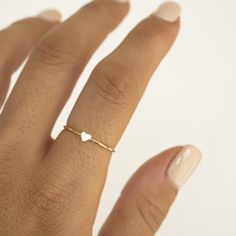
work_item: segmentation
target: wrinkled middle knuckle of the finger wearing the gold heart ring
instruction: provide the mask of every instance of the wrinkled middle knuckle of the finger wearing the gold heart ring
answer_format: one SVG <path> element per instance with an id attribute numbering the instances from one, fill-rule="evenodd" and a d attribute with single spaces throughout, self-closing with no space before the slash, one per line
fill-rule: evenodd
<path id="1" fill-rule="evenodd" d="M 108 104 L 127 105 L 140 94 L 136 73 L 121 63 L 99 64 L 93 78 L 95 93 Z"/>

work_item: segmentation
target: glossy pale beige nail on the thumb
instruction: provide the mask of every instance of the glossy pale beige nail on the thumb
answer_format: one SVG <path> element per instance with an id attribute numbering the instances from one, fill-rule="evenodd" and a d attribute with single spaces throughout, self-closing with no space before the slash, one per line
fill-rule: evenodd
<path id="1" fill-rule="evenodd" d="M 189 179 L 197 168 L 201 157 L 201 151 L 192 145 L 183 147 L 177 154 L 167 171 L 169 180 L 177 189 Z"/>

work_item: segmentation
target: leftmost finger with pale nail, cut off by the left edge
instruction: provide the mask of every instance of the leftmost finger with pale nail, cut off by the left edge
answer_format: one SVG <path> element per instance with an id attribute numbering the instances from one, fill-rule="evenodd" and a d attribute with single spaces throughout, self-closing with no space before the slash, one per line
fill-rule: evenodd
<path id="1" fill-rule="evenodd" d="M 60 20 L 55 10 L 17 21 L 0 31 L 0 108 L 5 99 L 9 78 L 21 65 L 39 39 Z"/>

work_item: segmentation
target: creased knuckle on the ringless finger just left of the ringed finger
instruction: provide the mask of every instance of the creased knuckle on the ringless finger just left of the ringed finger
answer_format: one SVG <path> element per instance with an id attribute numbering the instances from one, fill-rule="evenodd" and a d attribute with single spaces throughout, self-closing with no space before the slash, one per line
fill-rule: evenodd
<path id="1" fill-rule="evenodd" d="M 52 66 L 71 67 L 76 58 L 78 45 L 74 39 L 62 34 L 46 37 L 36 49 L 37 61 Z"/>

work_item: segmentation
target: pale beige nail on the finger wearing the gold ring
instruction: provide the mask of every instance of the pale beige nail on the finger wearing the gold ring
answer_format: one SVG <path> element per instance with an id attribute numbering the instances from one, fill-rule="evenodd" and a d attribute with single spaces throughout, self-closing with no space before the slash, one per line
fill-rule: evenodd
<path id="1" fill-rule="evenodd" d="M 181 7 L 175 2 L 165 2 L 161 4 L 154 12 L 155 16 L 170 23 L 174 23 L 175 21 L 177 21 L 180 14 Z"/>

